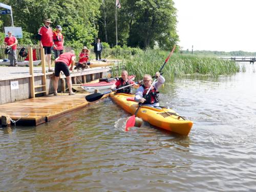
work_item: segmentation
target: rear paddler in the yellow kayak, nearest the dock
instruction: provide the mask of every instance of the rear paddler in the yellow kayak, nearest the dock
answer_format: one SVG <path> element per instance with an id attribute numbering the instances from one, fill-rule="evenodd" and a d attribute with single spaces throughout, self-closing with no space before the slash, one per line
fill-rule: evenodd
<path id="1" fill-rule="evenodd" d="M 119 88 L 128 86 L 129 84 L 134 84 L 134 83 L 135 83 L 134 81 L 129 80 L 129 78 L 128 78 L 128 72 L 124 70 L 124 71 L 122 71 L 121 79 L 117 80 L 117 81 L 115 82 L 115 84 L 113 84 L 113 85 L 111 86 L 111 90 L 112 90 L 112 91 L 116 91 L 116 89 L 119 89 Z M 126 87 L 126 88 L 117 90 L 116 93 L 131 94 L 131 87 L 132 87 L 132 86 L 129 86 L 129 87 Z M 138 85 L 138 84 L 135 84 L 133 87 L 138 88 L 139 85 Z"/>

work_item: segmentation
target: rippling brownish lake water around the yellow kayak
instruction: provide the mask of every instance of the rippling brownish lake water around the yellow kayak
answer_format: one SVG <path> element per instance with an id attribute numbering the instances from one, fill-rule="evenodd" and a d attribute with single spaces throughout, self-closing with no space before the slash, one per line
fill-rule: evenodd
<path id="1" fill-rule="evenodd" d="M 161 104 L 194 121 L 179 136 L 124 132 L 111 99 L 37 127 L 0 129 L 0 191 L 255 191 L 256 73 L 165 83 Z"/>

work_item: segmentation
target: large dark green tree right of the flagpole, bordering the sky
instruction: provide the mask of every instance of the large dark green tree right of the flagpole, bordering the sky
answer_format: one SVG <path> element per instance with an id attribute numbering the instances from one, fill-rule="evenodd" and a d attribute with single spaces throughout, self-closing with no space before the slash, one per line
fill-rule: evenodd
<path id="1" fill-rule="evenodd" d="M 176 32 L 176 8 L 172 0 L 136 1 L 129 45 L 143 49 L 153 48 L 155 41 L 160 48 L 170 49 L 179 40 Z"/>

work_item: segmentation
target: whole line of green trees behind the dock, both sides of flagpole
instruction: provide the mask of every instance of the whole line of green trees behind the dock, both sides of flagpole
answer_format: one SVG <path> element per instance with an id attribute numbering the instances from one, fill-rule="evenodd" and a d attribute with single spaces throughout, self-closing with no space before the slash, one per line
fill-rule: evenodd
<path id="1" fill-rule="evenodd" d="M 98 37 L 116 45 L 115 0 L 3 0 L 12 6 L 14 26 L 22 27 L 23 44 L 35 44 L 45 18 L 62 26 L 65 45 L 89 46 Z M 179 40 L 173 0 L 121 0 L 117 9 L 118 45 L 171 49 Z M 10 15 L 0 15 L 0 27 L 11 26 Z M 0 34 L 3 36 L 3 34 Z M 2 39 L 1 39 L 2 40 Z"/>

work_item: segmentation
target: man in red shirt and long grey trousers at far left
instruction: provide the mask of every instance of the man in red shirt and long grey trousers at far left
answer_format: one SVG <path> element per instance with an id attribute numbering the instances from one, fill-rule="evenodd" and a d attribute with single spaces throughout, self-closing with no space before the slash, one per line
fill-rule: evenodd
<path id="1" fill-rule="evenodd" d="M 5 45 L 7 48 L 10 48 L 11 52 L 8 53 L 8 59 L 10 60 L 10 66 L 11 67 L 17 67 L 18 62 L 17 62 L 17 44 L 18 40 L 16 37 L 12 36 L 12 32 L 8 31 L 8 37 L 5 37 Z"/>

